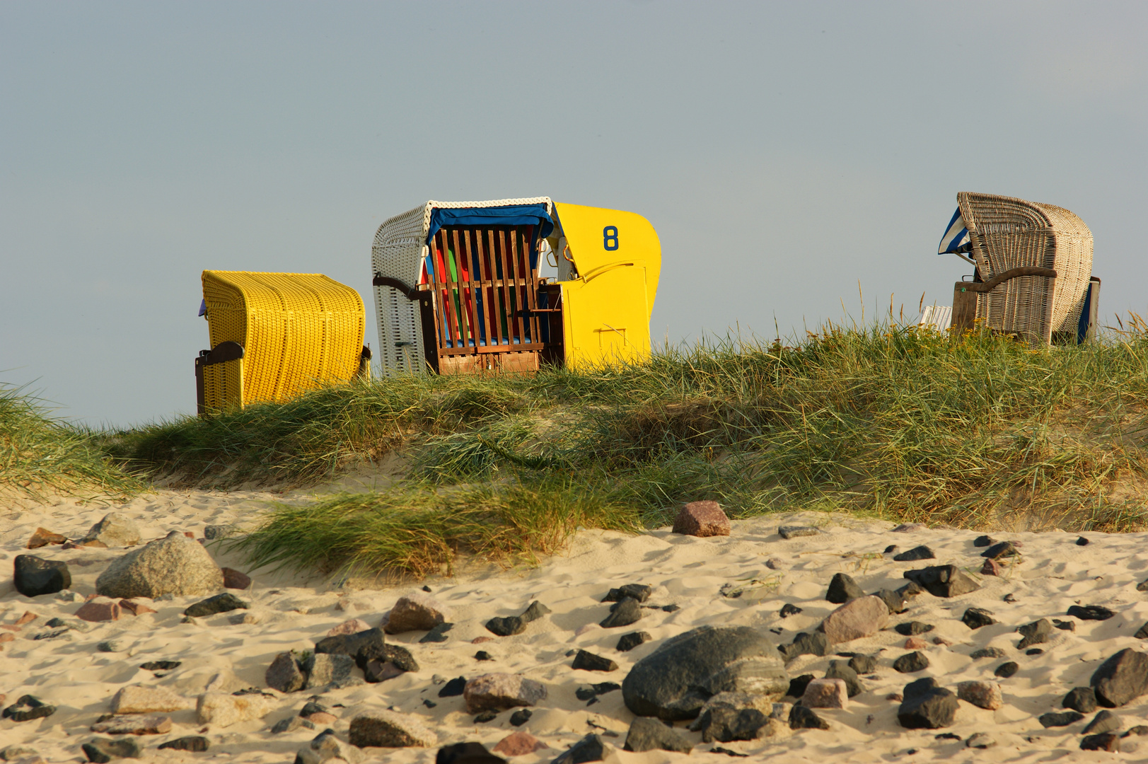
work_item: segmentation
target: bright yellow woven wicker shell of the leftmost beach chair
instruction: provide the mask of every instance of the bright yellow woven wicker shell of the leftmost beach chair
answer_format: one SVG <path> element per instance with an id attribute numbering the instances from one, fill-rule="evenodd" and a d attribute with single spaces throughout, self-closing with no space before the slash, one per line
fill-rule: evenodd
<path id="1" fill-rule="evenodd" d="M 358 371 L 366 318 L 349 286 L 321 273 L 203 271 L 203 299 L 211 347 L 245 350 L 204 370 L 209 408 L 284 401 Z"/>

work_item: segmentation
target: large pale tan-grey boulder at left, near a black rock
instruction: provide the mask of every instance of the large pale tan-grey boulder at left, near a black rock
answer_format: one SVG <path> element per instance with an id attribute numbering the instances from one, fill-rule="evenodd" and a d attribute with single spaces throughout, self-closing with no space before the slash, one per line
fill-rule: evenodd
<path id="1" fill-rule="evenodd" d="M 194 596 L 223 588 L 223 573 L 201 545 L 179 531 L 114 560 L 95 591 L 109 597 Z"/>

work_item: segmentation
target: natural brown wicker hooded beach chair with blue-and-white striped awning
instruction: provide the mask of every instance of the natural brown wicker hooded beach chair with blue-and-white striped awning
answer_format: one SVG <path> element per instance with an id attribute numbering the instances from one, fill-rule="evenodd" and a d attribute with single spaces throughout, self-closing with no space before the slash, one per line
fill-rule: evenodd
<path id="1" fill-rule="evenodd" d="M 957 281 L 952 327 L 975 324 L 1029 342 L 1081 342 L 1094 331 L 1100 279 L 1092 277 L 1092 232 L 1066 209 L 961 192 L 939 254 L 976 267 Z"/>

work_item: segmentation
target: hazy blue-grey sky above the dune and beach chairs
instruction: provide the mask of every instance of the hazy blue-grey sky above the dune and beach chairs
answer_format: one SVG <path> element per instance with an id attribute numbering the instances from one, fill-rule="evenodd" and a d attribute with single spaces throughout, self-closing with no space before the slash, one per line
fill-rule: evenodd
<path id="1" fill-rule="evenodd" d="M 956 193 L 1065 207 L 1148 312 L 1148 3 L 0 3 L 0 383 L 194 411 L 204 269 L 354 286 L 428 199 L 658 230 L 656 342 L 952 304 Z"/>

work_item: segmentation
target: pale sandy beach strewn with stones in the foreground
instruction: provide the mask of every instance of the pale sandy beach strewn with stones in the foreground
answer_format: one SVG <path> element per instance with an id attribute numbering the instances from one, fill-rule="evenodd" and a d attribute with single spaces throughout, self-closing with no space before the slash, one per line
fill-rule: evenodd
<path id="1" fill-rule="evenodd" d="M 154 613 L 123 615 L 114 622 L 76 623 L 75 612 L 95 592 L 95 579 L 110 561 L 126 550 L 117 548 L 40 548 L 38 554 L 68 563 L 75 595 L 25 597 L 13 586 L 13 558 L 29 554 L 26 543 L 38 527 L 69 538 L 84 535 L 109 511 L 133 519 L 142 542 L 171 531 L 203 537 L 209 525 L 236 524 L 250 527 L 271 501 L 290 500 L 269 492 L 174 492 L 163 491 L 132 499 L 123 504 L 54 499 L 45 502 L 21 500 L 6 515 L 0 532 L 0 555 L 6 571 L 0 581 L 0 625 L 13 635 L 0 647 L 0 694 L 7 707 L 31 694 L 56 707 L 47 718 L 15 723 L 0 721 L 0 748 L 20 744 L 34 749 L 48 762 L 87 761 L 80 744 L 96 736 L 93 724 L 110 710 L 111 699 L 125 686 L 163 687 L 186 699 L 186 708 L 168 713 L 169 732 L 141 735 L 144 761 L 192 762 L 204 758 L 231 762 L 290 762 L 295 753 L 325 726 L 347 740 L 348 725 L 357 713 L 391 709 L 411 715 L 437 738 L 437 746 L 463 741 L 494 748 L 515 731 L 536 736 L 549 748 L 515 756 L 512 761 L 549 762 L 588 733 L 598 733 L 607 744 L 606 761 L 669 762 L 711 756 L 714 746 L 771 762 L 1047 762 L 1148 759 L 1148 741 L 1135 734 L 1120 741 L 1123 754 L 1081 751 L 1083 727 L 1092 719 L 1063 727 L 1045 728 L 1038 717 L 1063 711 L 1062 699 L 1073 687 L 1087 686 L 1089 677 L 1109 656 L 1123 648 L 1140 649 L 1134 633 L 1148 622 L 1148 594 L 1137 585 L 1148 578 L 1146 534 L 1088 533 L 1086 546 L 1077 534 L 993 533 L 995 539 L 1021 543 L 1018 563 L 1006 565 L 1001 576 L 980 576 L 983 548 L 974 546 L 979 533 L 964 530 L 916 528 L 893 532 L 885 522 L 859 520 L 844 515 L 806 514 L 767 516 L 735 520 L 728 537 L 693 538 L 669 528 L 638 535 L 583 531 L 568 550 L 544 558 L 536 568 L 501 570 L 471 563 L 455 577 L 425 581 L 366 581 L 341 577 L 248 570 L 240 557 L 207 548 L 220 565 L 247 572 L 251 587 L 235 592 L 249 608 L 196 618 L 184 623 L 183 611 L 203 597 L 156 600 Z M 783 524 L 815 525 L 821 531 L 790 540 L 777 528 Z M 890 545 L 903 551 L 928 545 L 934 560 L 894 562 L 884 554 Z M 576 696 L 579 688 L 618 682 L 630 667 L 650 655 L 667 638 L 703 625 L 748 626 L 776 645 L 793 640 L 798 632 L 813 632 L 838 605 L 824 596 L 835 573 L 851 576 L 867 593 L 906 584 L 903 571 L 929 564 L 955 564 L 969 572 L 979 588 L 944 599 L 917 595 L 908 610 L 890 617 L 889 626 L 863 639 L 833 645 L 825 656 L 801 655 L 791 661 L 791 678 L 822 677 L 835 653 L 877 656 L 874 672 L 862 676 L 864 692 L 850 699 L 845 709 L 816 709 L 829 730 L 794 730 L 770 738 L 726 743 L 701 742 L 699 733 L 678 723 L 677 731 L 695 746 L 693 753 L 622 750 L 634 715 L 619 690 L 603 692 L 588 702 Z M 642 619 L 631 626 L 603 628 L 610 603 L 602 602 L 612 587 L 625 584 L 652 587 Z M 351 618 L 375 627 L 400 596 L 422 586 L 430 596 L 449 607 L 453 628 L 440 643 L 421 643 L 425 631 L 388 635 L 387 641 L 408 648 L 419 664 L 379 684 L 352 682 L 323 692 L 279 693 L 267 689 L 265 671 L 285 650 L 310 650 L 328 632 Z M 521 634 L 495 636 L 484 623 L 496 616 L 513 616 L 533 601 L 550 613 L 530 623 Z M 782 617 L 784 604 L 800 612 Z M 1081 620 L 1066 616 L 1073 604 L 1104 605 L 1115 616 L 1107 620 Z M 676 605 L 676 609 L 664 609 Z M 970 608 L 984 608 L 999 622 L 977 630 L 962 623 Z M 25 612 L 34 615 L 28 620 Z M 22 620 L 23 625 L 15 626 Z M 47 626 L 53 618 L 71 623 L 60 631 Z M 1072 622 L 1075 631 L 1055 628 L 1042 650 L 1027 655 L 1016 649 L 1017 626 L 1040 618 Z M 921 638 L 929 666 L 913 673 L 892 667 L 907 638 L 894 626 L 922 622 L 933 630 Z M 629 651 L 616 648 L 619 638 L 633 631 L 652 639 Z M 37 639 L 40 636 L 40 639 Z M 116 651 L 98 645 L 114 641 Z M 479 643 L 474 643 L 478 640 Z M 974 650 L 996 647 L 1002 658 L 974 659 Z M 584 649 L 614 661 L 614 671 L 584 671 L 571 666 L 575 650 Z M 482 650 L 489 659 L 479 661 Z M 179 661 L 173 670 L 149 671 L 140 665 L 152 661 Z M 1006 661 L 1019 664 L 1008 678 L 994 676 Z M 521 726 L 512 726 L 507 711 L 475 723 L 460 696 L 440 697 L 444 681 L 482 673 L 522 674 L 545 685 L 548 695 Z M 362 677 L 362 672 L 356 672 Z M 933 677 L 954 692 L 965 680 L 1000 684 L 1003 705 L 986 710 L 960 701 L 955 721 L 943 730 L 906 730 L 898 724 L 897 700 L 909 681 Z M 228 726 L 196 720 L 195 699 L 209 688 L 233 693 L 245 688 L 264 690 L 267 712 L 262 718 Z M 584 694 L 584 693 L 583 693 Z M 316 728 L 300 727 L 273 733 L 271 727 L 298 715 L 303 704 L 317 702 L 335 717 Z M 793 703 L 785 697 L 783 702 Z M 1119 728 L 1148 723 L 1148 695 L 1112 712 Z M 967 748 L 968 738 L 987 733 L 995 744 Z M 210 741 L 205 753 L 160 750 L 166 740 L 203 735 Z M 938 739 L 947 734 L 948 738 Z M 954 738 L 955 735 L 955 738 Z M 364 748 L 363 761 L 430 762 L 436 747 Z M 724 759 L 714 759 L 724 761 Z"/>

